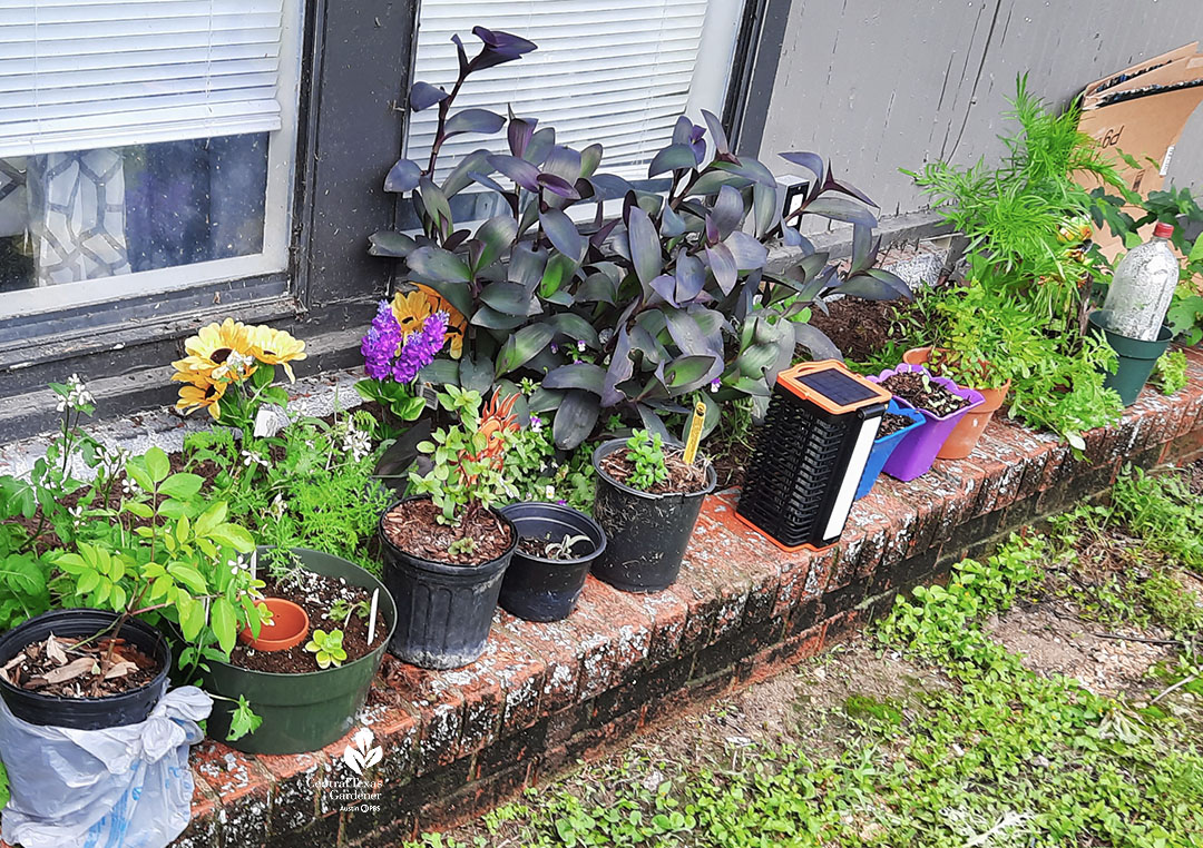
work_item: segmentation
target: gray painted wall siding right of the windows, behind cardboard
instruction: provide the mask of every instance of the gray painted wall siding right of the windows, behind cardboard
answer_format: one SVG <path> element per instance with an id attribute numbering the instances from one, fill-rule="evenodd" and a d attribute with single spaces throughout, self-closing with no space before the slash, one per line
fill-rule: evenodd
<path id="1" fill-rule="evenodd" d="M 1103 74 L 1203 40 L 1203 0 L 769 0 L 740 148 L 816 150 L 883 214 L 926 204 L 900 167 L 1001 150 L 1015 74 L 1067 103 Z M 775 47 L 775 44 L 774 44 Z M 1171 163 L 1203 185 L 1203 107 Z"/>

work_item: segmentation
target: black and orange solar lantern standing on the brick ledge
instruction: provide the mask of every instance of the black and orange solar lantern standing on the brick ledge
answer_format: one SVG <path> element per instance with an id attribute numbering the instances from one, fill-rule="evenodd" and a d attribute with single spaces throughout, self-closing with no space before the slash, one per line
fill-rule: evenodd
<path id="1" fill-rule="evenodd" d="M 835 544 L 889 400 L 834 359 L 777 375 L 739 518 L 786 550 Z"/>

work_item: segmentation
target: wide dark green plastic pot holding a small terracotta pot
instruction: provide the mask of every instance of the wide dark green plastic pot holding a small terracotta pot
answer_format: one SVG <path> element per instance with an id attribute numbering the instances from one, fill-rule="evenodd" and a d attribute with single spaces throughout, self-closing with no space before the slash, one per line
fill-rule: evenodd
<path id="1" fill-rule="evenodd" d="M 384 584 L 358 566 L 330 554 L 295 548 L 302 565 L 326 577 L 343 578 L 354 586 L 372 592 L 379 590 L 379 609 L 385 633 L 380 646 L 354 662 L 307 674 L 275 674 L 237 668 L 221 661 L 209 661 L 203 674 L 205 688 L 221 698 L 238 700 L 245 695 L 250 707 L 263 718 L 254 733 L 233 742 L 232 748 L 254 754 L 298 754 L 318 751 L 342 739 L 355 723 L 355 713 L 367 700 L 372 679 L 380 670 L 385 647 L 397 623 L 397 608 Z M 209 717 L 208 733 L 225 742 L 233 704 L 217 700 Z"/>

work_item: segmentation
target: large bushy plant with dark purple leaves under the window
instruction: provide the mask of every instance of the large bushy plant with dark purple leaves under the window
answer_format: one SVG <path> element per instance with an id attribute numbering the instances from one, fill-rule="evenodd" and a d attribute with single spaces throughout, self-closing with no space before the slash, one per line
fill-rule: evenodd
<path id="1" fill-rule="evenodd" d="M 648 179 L 666 186 L 659 192 L 599 172 L 600 145 L 557 144 L 555 130 L 534 119 L 451 114 L 475 70 L 534 49 L 505 32 L 473 31 L 484 47 L 468 60 L 457 40 L 460 74 L 450 91 L 426 83 L 410 91 L 411 108 L 440 111 L 426 167 L 403 159 L 385 180 L 387 191 L 410 193 L 422 232 L 372 237 L 372 253 L 403 259 L 407 281 L 433 288 L 468 320 L 460 359 L 435 360 L 423 378 L 482 394 L 538 381 L 527 410 L 555 411 L 561 448 L 587 438 L 603 411 L 668 435 L 662 416 L 691 407 L 687 395 L 707 404 L 707 426 L 724 400 L 752 396 L 763 408 L 795 345 L 838 358 L 806 323 L 828 297 L 909 298 L 902 280 L 873 268 L 872 201 L 817 154 L 781 155 L 813 177 L 783 215 L 772 172 L 735 155 L 710 113 L 705 127 L 678 119 L 652 159 Z M 445 138 L 503 126 L 509 153 L 476 150 L 435 185 Z M 449 198 L 474 184 L 499 195 L 509 211 L 473 232 L 457 228 Z M 608 201 L 621 211 L 608 217 Z M 802 235 L 805 215 L 853 225 L 847 270 Z M 769 262 L 775 243 L 790 249 L 780 268 Z"/>

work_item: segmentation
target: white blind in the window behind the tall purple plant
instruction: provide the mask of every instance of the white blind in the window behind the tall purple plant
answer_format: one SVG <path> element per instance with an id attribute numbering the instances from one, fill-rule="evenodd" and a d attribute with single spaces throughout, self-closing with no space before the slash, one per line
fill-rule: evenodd
<path id="1" fill-rule="evenodd" d="M 707 11 L 715 25 L 718 7 L 719 25 L 729 31 L 719 37 L 725 49 L 701 61 L 729 67 L 735 37 L 729 7 L 736 6 L 735 0 L 422 0 L 414 79 L 450 90 L 458 68 L 451 36 L 458 34 L 469 58 L 475 55 L 474 24 L 529 38 L 539 49 L 474 73 L 454 108 L 504 115 L 509 104 L 515 115 L 555 127 L 559 144 L 602 144 L 604 171 L 646 178 L 677 117 L 697 101 L 691 89 Z M 710 78 L 725 86 L 725 70 Z M 409 156 L 425 161 L 437 121 L 437 108 L 411 115 Z M 482 147 L 503 149 L 504 133 L 451 138 L 439 155 L 439 173 Z"/>

